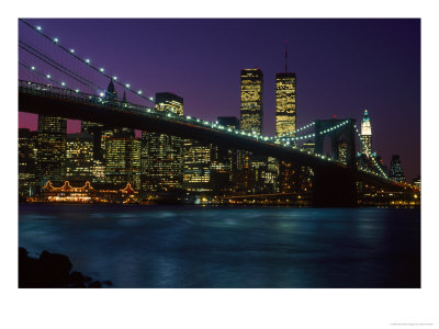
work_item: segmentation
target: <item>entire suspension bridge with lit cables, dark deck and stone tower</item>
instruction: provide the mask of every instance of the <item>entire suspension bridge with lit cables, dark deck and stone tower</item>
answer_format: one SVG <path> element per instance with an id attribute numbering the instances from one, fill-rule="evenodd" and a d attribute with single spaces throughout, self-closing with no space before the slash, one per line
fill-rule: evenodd
<path id="1" fill-rule="evenodd" d="M 357 164 L 356 140 L 359 132 L 353 118 L 317 120 L 297 128 L 293 136 L 273 137 L 226 127 L 199 117 L 162 113 L 155 109 L 151 95 L 145 95 L 128 82 L 121 82 L 117 76 L 109 75 L 104 68 L 94 66 L 90 58 L 81 57 L 74 48 L 64 46 L 58 37 L 44 34 L 41 26 L 34 26 L 24 20 L 20 22 L 23 30 L 29 29 L 32 32 L 30 37 L 20 35 L 19 39 L 20 76 L 24 77 L 19 80 L 20 112 L 111 126 L 123 125 L 225 148 L 233 145 L 235 149 L 306 166 L 314 172 L 313 203 L 316 206 L 354 206 L 358 182 L 386 191 L 407 189 L 406 184 L 389 179 L 374 158 L 373 170 Z M 42 39 L 34 42 L 35 37 Z M 68 67 L 69 61 L 76 64 L 75 68 L 71 65 Z M 52 73 L 54 71 L 56 73 Z M 90 72 L 98 78 L 91 78 Z M 102 87 L 109 80 L 123 90 L 122 99 L 109 101 L 106 88 Z M 131 93 L 135 101 L 126 101 L 125 93 Z M 330 156 L 323 154 L 323 144 L 327 137 L 333 141 Z M 334 141 L 340 137 L 347 141 L 347 157 L 344 162 L 338 161 L 335 156 Z M 315 141 L 314 152 L 297 145 L 311 138 Z M 361 138 L 358 139 L 361 143 Z"/>

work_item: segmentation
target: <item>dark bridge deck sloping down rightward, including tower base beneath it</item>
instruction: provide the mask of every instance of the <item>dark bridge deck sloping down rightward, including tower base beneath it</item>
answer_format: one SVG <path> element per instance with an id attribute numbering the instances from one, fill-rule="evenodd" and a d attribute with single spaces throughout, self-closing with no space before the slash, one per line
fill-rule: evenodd
<path id="1" fill-rule="evenodd" d="M 357 181 L 384 188 L 387 191 L 404 189 L 401 184 L 378 174 L 348 168 L 341 162 L 308 154 L 297 147 L 286 147 L 272 140 L 266 140 L 263 136 L 247 136 L 232 129 L 227 131 L 226 127 L 214 128 L 212 123 L 199 118 L 169 116 L 154 109 L 120 101 L 105 103 L 95 95 L 67 89 L 21 80 L 19 83 L 19 111 L 165 133 L 311 167 L 315 174 L 314 190 L 316 192 L 314 197 L 322 198 L 315 202 L 316 205 L 356 204 L 354 185 Z M 341 191 L 346 189 L 347 191 Z"/>

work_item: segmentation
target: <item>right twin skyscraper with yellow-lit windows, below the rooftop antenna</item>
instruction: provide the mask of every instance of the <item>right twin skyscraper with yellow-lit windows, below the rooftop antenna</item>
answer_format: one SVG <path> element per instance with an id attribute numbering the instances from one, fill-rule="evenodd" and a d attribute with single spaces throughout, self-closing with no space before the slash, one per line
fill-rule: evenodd
<path id="1" fill-rule="evenodd" d="M 294 72 L 275 75 L 275 135 L 294 136 L 296 77 Z"/>

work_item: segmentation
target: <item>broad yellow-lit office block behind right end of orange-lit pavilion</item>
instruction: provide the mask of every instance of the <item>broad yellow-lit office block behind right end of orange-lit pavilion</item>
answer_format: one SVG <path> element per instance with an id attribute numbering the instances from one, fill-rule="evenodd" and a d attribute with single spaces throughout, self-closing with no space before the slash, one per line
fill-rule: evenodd
<path id="1" fill-rule="evenodd" d="M 113 186 L 130 183 L 133 188 L 139 184 L 140 141 L 133 135 L 117 132 L 109 138 L 105 147 L 105 182 Z"/>

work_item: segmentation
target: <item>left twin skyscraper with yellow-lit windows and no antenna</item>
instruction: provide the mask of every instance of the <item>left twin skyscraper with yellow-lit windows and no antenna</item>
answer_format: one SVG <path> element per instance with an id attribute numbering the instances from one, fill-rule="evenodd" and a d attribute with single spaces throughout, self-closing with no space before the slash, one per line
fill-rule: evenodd
<path id="1" fill-rule="evenodd" d="M 260 69 L 240 71 L 240 129 L 262 134 L 263 75 Z"/>

